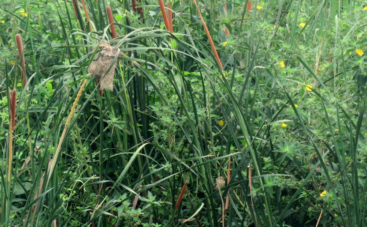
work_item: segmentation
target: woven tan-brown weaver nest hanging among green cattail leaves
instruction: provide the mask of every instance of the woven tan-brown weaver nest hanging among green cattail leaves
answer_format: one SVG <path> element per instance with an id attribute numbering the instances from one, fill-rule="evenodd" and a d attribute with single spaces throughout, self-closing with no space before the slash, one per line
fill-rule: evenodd
<path id="1" fill-rule="evenodd" d="M 116 48 L 110 46 L 108 43 L 100 42 L 97 53 L 95 54 L 89 68 L 88 72 L 91 73 L 95 79 L 99 80 L 99 85 L 101 90 L 113 88 L 113 76 L 115 75 L 116 62 L 113 63 L 113 58 L 116 55 Z M 111 66 L 112 65 L 112 66 Z M 111 68 L 110 68 L 111 66 Z M 110 70 L 108 71 L 108 69 Z"/>

